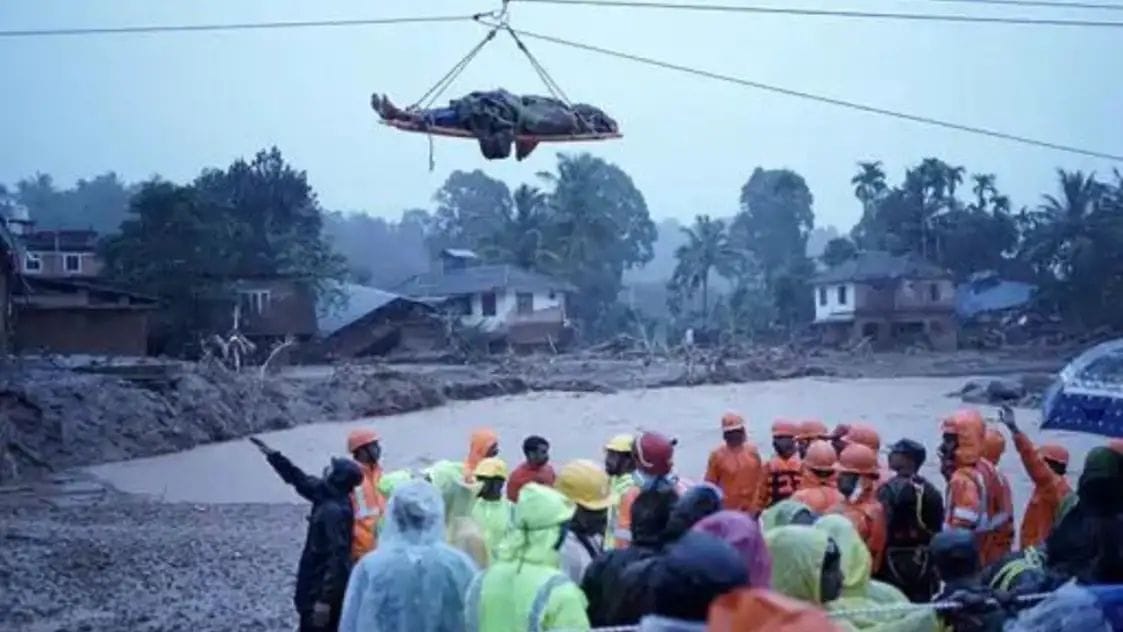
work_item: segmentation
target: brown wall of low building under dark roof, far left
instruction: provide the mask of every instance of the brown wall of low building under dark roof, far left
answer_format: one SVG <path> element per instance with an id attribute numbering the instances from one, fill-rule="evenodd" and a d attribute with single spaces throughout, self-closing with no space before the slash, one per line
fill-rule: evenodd
<path id="1" fill-rule="evenodd" d="M 18 306 L 12 347 L 24 352 L 144 356 L 147 310 Z"/>

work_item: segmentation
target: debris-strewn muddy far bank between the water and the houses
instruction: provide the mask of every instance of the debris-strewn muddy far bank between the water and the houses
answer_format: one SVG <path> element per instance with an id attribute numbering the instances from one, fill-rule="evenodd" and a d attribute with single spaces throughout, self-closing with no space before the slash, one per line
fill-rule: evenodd
<path id="1" fill-rule="evenodd" d="M 1056 350 L 855 356 L 763 348 L 742 357 L 497 357 L 472 365 L 9 366 L 0 373 L 0 483 L 186 450 L 257 432 L 529 392 L 618 393 L 802 376 L 1049 374 Z M 112 368 L 113 370 L 109 370 Z M 158 368 L 158 370 L 157 370 Z"/>

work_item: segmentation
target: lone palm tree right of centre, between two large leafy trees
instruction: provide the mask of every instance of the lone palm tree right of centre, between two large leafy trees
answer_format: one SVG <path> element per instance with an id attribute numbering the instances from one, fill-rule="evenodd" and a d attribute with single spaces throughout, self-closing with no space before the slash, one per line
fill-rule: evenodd
<path id="1" fill-rule="evenodd" d="M 687 241 L 675 250 L 678 263 L 672 283 L 688 293 L 702 290 L 702 319 L 705 321 L 710 312 L 710 273 L 734 269 L 745 254 L 730 242 L 725 222 L 710 216 L 697 216 L 694 226 L 682 231 Z"/>

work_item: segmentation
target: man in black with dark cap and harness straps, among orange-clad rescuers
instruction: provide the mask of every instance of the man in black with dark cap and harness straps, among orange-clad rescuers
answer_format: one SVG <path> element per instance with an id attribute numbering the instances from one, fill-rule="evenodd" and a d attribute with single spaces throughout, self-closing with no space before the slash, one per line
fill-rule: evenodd
<path id="1" fill-rule="evenodd" d="M 943 498 L 919 474 L 926 458 L 924 446 L 912 439 L 894 443 L 889 468 L 895 476 L 877 493 L 886 523 L 885 558 L 877 577 L 914 603 L 929 602 L 939 588 L 929 543 L 943 523 Z"/>

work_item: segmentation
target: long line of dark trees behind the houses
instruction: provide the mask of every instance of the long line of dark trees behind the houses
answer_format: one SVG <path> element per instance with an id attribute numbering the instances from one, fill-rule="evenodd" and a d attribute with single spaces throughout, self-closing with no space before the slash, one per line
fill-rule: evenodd
<path id="1" fill-rule="evenodd" d="M 478 170 L 454 172 L 431 210 L 396 221 L 323 210 L 276 148 L 189 184 L 107 173 L 58 189 L 37 174 L 0 189 L 0 205 L 26 205 L 43 228 L 103 232 L 110 280 L 162 296 L 181 332 L 200 327 L 204 314 L 192 305 L 221 293 L 225 278 L 298 277 L 334 299 L 341 281 L 392 288 L 429 269 L 440 249 L 460 247 L 570 282 L 572 315 L 593 340 L 650 320 L 621 295 L 626 274 L 649 264 L 660 239 L 676 244 L 665 287 L 673 329 L 797 330 L 814 313 L 816 271 L 862 250 L 914 253 L 957 282 L 980 272 L 1032 282 L 1038 306 L 1074 327 L 1123 324 L 1120 173 L 1058 171 L 1054 192 L 1016 210 L 993 174 L 938 158 L 896 184 L 880 163 L 859 163 L 851 184 L 860 219 L 819 257 L 806 254 L 809 238 L 830 233 L 816 229 L 811 189 L 791 170 L 756 168 L 734 212 L 702 213 L 681 235 L 660 236 L 631 177 L 587 154 L 559 155 L 553 171 L 513 190 Z"/>

